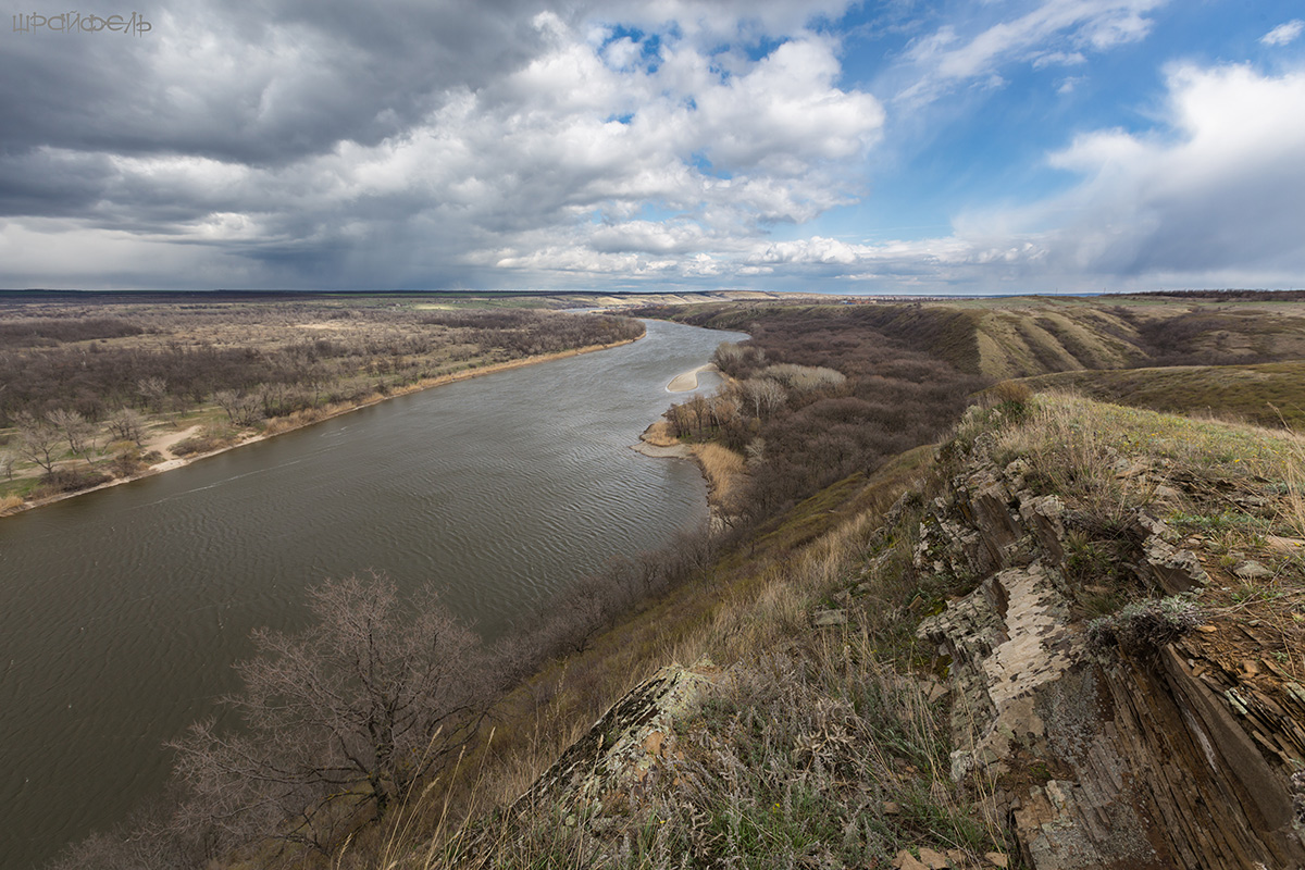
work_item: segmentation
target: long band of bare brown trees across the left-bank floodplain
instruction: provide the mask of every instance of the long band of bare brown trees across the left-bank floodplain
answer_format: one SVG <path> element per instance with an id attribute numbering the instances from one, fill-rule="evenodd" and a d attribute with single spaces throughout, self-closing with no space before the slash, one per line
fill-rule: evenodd
<path id="1" fill-rule="evenodd" d="M 352 400 L 377 383 L 432 377 L 480 355 L 491 356 L 487 363 L 510 361 L 628 340 L 642 330 L 624 318 L 491 310 L 414 317 L 356 333 L 346 322 L 330 337 L 271 346 L 189 346 L 164 338 L 159 347 L 116 347 L 97 339 L 138 335 L 145 327 L 108 318 L 78 323 L 40 320 L 0 329 L 0 427 L 17 415 L 43 417 L 56 410 L 91 423 L 120 407 L 179 411 L 223 391 L 260 393 L 257 416 L 279 416 Z"/>

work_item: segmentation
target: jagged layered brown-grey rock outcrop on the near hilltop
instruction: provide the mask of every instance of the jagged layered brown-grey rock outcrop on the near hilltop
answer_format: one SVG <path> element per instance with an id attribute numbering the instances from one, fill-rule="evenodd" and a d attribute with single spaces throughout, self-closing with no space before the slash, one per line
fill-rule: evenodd
<path id="1" fill-rule="evenodd" d="M 950 656 L 953 776 L 996 783 L 990 810 L 1037 870 L 1305 867 L 1305 691 L 1257 681 L 1272 677 L 1267 660 L 1231 664 L 1219 625 L 1094 650 L 1064 570 L 1075 517 L 1023 477 L 1022 463 L 974 460 L 930 505 L 915 550 L 917 569 L 974 586 L 919 629 Z M 1208 580 L 1150 513 L 1128 533 L 1143 588 Z"/>

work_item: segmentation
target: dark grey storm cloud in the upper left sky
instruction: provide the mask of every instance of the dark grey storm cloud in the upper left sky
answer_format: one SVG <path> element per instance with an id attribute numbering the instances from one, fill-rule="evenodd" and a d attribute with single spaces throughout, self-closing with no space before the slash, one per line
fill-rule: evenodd
<path id="1" fill-rule="evenodd" d="M 146 9 L 142 37 L 7 34 L 0 149 L 283 164 L 375 143 L 538 51 L 522 5 L 189 4 Z"/>

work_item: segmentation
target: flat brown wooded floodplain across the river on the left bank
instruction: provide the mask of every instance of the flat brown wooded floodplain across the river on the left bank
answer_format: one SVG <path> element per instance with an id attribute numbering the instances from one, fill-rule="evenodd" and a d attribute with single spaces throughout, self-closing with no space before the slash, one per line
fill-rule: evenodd
<path id="1" fill-rule="evenodd" d="M 0 299 L 0 446 L 14 459 L 0 493 L 121 477 L 138 466 L 123 442 L 141 447 L 159 428 L 204 425 L 172 449 L 197 455 L 441 377 L 642 334 L 624 318 L 432 310 L 418 297 L 90 299 Z M 35 480 L 82 463 L 97 475 Z"/>

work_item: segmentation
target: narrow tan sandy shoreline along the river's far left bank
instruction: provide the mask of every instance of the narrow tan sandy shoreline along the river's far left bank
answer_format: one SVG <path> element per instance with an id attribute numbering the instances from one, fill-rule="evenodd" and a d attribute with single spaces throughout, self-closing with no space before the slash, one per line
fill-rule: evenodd
<path id="1" fill-rule="evenodd" d="M 33 507 L 43 507 L 46 505 L 52 505 L 52 503 L 55 503 L 57 501 L 64 501 L 64 500 L 68 500 L 68 498 L 76 498 L 77 496 L 85 496 L 86 493 L 93 493 L 93 492 L 97 492 L 99 489 L 107 489 L 108 487 L 116 487 L 119 484 L 130 483 L 132 480 L 140 480 L 142 477 L 151 477 L 154 475 L 163 473 L 163 472 L 167 472 L 167 471 L 174 471 L 176 468 L 184 468 L 185 466 L 189 466 L 191 463 L 198 462 L 201 459 L 207 459 L 209 457 L 215 457 L 215 455 L 218 455 L 221 453 L 226 453 L 228 450 L 235 450 L 236 447 L 244 447 L 245 445 L 251 445 L 251 443 L 257 443 L 257 442 L 265 441 L 268 438 L 274 438 L 275 436 L 284 434 L 286 432 L 295 432 L 298 429 L 304 429 L 304 428 L 311 427 L 311 425 L 313 425 L 316 423 L 321 423 L 324 420 L 330 420 L 333 417 L 343 416 L 346 413 L 350 413 L 352 411 L 358 411 L 360 408 L 369 408 L 369 407 L 372 407 L 375 404 L 380 404 L 380 403 L 386 402 L 389 399 L 395 399 L 395 398 L 398 398 L 401 395 L 411 395 L 414 393 L 422 393 L 424 390 L 431 390 L 431 389 L 435 389 L 437 386 L 444 386 L 446 383 L 454 383 L 457 381 L 466 381 L 466 380 L 470 380 L 470 378 L 474 378 L 474 377 L 480 377 L 482 374 L 495 374 L 497 372 L 506 372 L 506 370 L 510 370 L 510 369 L 519 369 L 519 368 L 523 368 L 526 365 L 535 365 L 538 363 L 551 363 L 553 360 L 562 360 L 562 359 L 568 359 L 568 357 L 572 357 L 572 356 L 579 356 L 581 353 L 592 353 L 595 351 L 606 351 L 606 350 L 609 350 L 609 348 L 613 348 L 613 347 L 620 347 L 622 344 L 632 344 L 632 343 L 639 340 L 641 338 L 645 338 L 646 335 L 647 335 L 647 330 L 645 330 L 643 334 L 639 335 L 638 338 L 632 338 L 628 342 L 613 342 L 611 344 L 590 344 L 587 347 L 579 347 L 579 348 L 570 350 L 570 351 L 560 351 L 557 353 L 545 353 L 543 356 L 531 356 L 531 357 L 526 357 L 526 359 L 522 359 L 522 360 L 512 360 L 510 363 L 496 363 L 493 365 L 485 365 L 483 368 L 465 369 L 462 372 L 454 372 L 452 374 L 441 374 L 438 377 L 425 378 L 423 381 L 418 381 L 416 383 L 410 383 L 408 386 L 394 387 L 386 395 L 376 395 L 375 398 L 367 399 L 364 402 L 358 402 L 358 403 L 354 403 L 354 404 L 330 406 L 329 408 L 318 410 L 317 413 L 308 415 L 308 416 L 300 416 L 299 419 L 295 419 L 295 415 L 292 415 L 291 417 L 278 417 L 275 420 L 275 430 L 274 432 L 260 432 L 257 434 L 251 434 L 251 436 L 248 436 L 245 438 L 241 438 L 240 441 L 236 441 L 235 443 L 227 445 L 224 447 L 219 447 L 218 450 L 210 450 L 209 453 L 201 453 L 201 454 L 196 454 L 193 457 L 184 457 L 184 458 L 176 458 L 176 457 L 174 457 L 174 458 L 170 458 L 170 459 L 164 459 L 163 462 L 159 462 L 159 463 L 155 463 L 155 464 L 150 466 L 150 468 L 147 471 L 145 471 L 145 472 L 142 472 L 140 475 L 132 475 L 129 477 L 115 477 L 114 480 L 110 480 L 108 483 L 103 483 L 99 487 L 90 487 L 87 489 L 78 489 L 77 492 L 72 492 L 72 493 L 60 493 L 57 496 L 51 496 L 48 498 L 38 498 L 38 500 L 33 500 L 33 501 L 25 501 L 21 505 L 14 505 L 14 506 L 4 510 L 4 511 L 0 511 L 0 517 L 9 517 L 9 515 L 13 515 L 13 514 L 20 514 L 20 513 L 22 513 L 25 510 L 31 510 Z M 680 376 L 680 377 L 683 377 L 683 376 Z M 191 427 L 185 432 L 174 432 L 174 433 L 167 433 L 166 436 L 157 436 L 154 438 L 154 441 L 151 441 L 150 447 L 154 449 L 157 446 L 163 446 L 163 450 L 159 450 L 159 453 L 167 455 L 168 453 L 171 453 L 170 447 L 172 445 L 175 445 L 175 443 L 177 443 L 177 442 L 180 442 L 180 441 L 191 437 L 197 430 L 198 430 L 198 427 Z"/>

